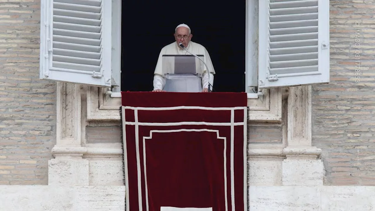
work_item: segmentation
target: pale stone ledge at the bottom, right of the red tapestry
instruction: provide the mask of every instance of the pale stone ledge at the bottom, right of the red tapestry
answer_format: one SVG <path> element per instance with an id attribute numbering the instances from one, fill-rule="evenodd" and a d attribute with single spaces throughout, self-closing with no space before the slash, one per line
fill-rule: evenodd
<path id="1" fill-rule="evenodd" d="M 251 211 L 370 211 L 374 186 L 250 186 Z"/>

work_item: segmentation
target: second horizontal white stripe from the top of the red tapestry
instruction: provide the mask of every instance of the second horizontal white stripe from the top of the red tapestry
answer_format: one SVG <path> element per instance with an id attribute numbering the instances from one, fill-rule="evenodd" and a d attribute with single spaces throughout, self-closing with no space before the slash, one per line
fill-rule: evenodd
<path id="1" fill-rule="evenodd" d="M 127 125 L 135 125 L 135 122 L 125 122 Z M 141 126 L 180 126 L 180 125 L 210 125 L 210 126 L 231 126 L 228 122 L 138 122 Z M 244 125 L 243 122 L 234 122 L 234 126 Z"/>

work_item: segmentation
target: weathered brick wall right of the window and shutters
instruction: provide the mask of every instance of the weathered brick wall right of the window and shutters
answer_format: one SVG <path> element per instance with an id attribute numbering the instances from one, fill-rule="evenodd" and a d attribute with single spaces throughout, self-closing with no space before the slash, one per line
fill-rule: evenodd
<path id="1" fill-rule="evenodd" d="M 313 144 L 323 149 L 327 185 L 375 185 L 375 3 L 330 5 L 331 83 L 314 86 Z"/>

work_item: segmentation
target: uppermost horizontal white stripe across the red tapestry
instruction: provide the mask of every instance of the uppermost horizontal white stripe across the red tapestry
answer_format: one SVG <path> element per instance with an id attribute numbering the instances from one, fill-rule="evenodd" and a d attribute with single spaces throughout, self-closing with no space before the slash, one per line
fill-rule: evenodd
<path id="1" fill-rule="evenodd" d="M 174 107 L 133 107 L 133 106 L 124 106 L 125 109 L 132 109 L 132 110 L 145 110 L 145 111 L 169 111 L 169 110 L 180 110 L 180 109 L 197 109 L 197 110 L 242 110 L 247 109 L 246 106 L 237 106 L 237 107 L 203 107 L 203 106 L 174 106 Z"/>

